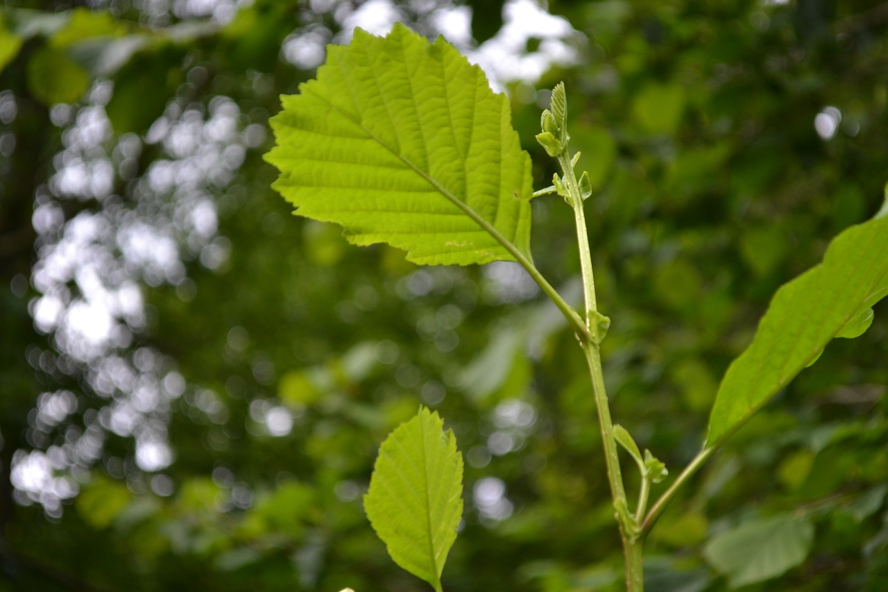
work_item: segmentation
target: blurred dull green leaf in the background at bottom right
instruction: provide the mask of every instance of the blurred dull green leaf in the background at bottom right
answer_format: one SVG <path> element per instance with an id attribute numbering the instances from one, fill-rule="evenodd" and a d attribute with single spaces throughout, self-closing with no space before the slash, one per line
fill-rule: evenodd
<path id="1" fill-rule="evenodd" d="M 769 580 L 805 561 L 814 539 L 812 524 L 789 515 L 744 522 L 718 534 L 703 556 L 726 575 L 731 588 Z"/>

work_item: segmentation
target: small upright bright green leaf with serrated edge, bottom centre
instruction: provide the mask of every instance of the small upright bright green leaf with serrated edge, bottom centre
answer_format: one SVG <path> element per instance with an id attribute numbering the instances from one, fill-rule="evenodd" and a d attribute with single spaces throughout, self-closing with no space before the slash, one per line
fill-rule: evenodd
<path id="1" fill-rule="evenodd" d="M 380 446 L 364 508 L 394 562 L 436 590 L 463 515 L 462 494 L 456 437 L 423 407 Z"/>

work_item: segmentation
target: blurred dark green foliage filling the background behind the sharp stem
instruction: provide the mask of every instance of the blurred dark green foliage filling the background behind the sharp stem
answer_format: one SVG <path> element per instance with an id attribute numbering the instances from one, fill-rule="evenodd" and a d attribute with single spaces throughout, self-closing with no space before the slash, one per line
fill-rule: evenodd
<path id="1" fill-rule="evenodd" d="M 269 188 L 262 131 L 278 95 L 313 76 L 307 41 L 329 42 L 364 3 L 75 4 L 13 1 L 0 13 L 0 590 L 424 589 L 386 556 L 360 501 L 378 444 L 419 404 L 445 418 L 466 460 L 445 589 L 620 589 L 588 380 L 557 313 L 508 266 L 416 268 L 385 247 L 353 248 L 337 228 L 293 219 Z M 396 4 L 431 34 L 448 3 Z M 464 4 L 475 39 L 496 36 L 503 2 Z M 888 10 L 550 10 L 582 34 L 580 57 L 509 86 L 515 126 L 542 188 L 554 170 L 532 135 L 545 89 L 566 82 L 579 168 L 596 191 L 587 211 L 599 306 L 613 320 L 603 358 L 614 420 L 674 476 L 774 290 L 881 204 Z M 226 109 L 246 148 L 214 161 L 237 164 L 206 189 L 217 228 L 171 235 L 179 275 L 124 260 L 144 322 L 127 321 L 129 340 L 101 356 L 72 356 L 32 320 L 39 261 L 90 214 L 150 224 L 173 207 L 190 164 L 167 193 L 139 185 L 184 149 L 165 130 Z M 56 173 L 71 162 L 57 155 L 99 112 L 113 133 L 77 157 L 106 149 L 111 186 L 67 195 Z M 537 267 L 577 298 L 572 213 L 544 197 L 534 216 Z M 96 240 L 121 260 L 125 241 L 107 228 Z M 87 284 L 66 285 L 76 295 Z M 860 339 L 831 343 L 678 496 L 646 545 L 649 590 L 743 581 L 712 561 L 719 540 L 749 532 L 741 524 L 813 530 L 799 566 L 743 589 L 888 588 L 886 319 L 883 302 Z M 163 427 L 169 466 L 140 464 L 139 426 L 112 421 L 137 389 L 103 387 L 103 362 L 156 375 L 173 394 L 134 416 Z M 46 396 L 62 391 L 73 398 Z M 74 460 L 86 435 L 99 452 Z M 37 452 L 75 497 L 59 506 L 13 487 L 28 476 L 12 468 Z"/>

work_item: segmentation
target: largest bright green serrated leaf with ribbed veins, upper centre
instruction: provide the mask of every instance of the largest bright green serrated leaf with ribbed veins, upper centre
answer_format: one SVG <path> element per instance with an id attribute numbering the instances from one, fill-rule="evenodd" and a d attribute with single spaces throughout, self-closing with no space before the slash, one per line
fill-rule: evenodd
<path id="1" fill-rule="evenodd" d="M 416 263 L 530 259 L 531 164 L 509 102 L 443 38 L 356 30 L 299 90 L 266 155 L 298 215 Z"/>

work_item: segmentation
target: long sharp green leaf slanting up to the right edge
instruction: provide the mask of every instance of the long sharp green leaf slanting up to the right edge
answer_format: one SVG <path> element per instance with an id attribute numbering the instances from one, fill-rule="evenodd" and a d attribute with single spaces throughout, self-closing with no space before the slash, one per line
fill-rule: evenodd
<path id="1" fill-rule="evenodd" d="M 836 236 L 821 265 L 784 284 L 749 348 L 718 388 L 707 445 L 720 444 L 836 336 L 860 334 L 867 310 L 888 294 L 888 218 Z"/>

